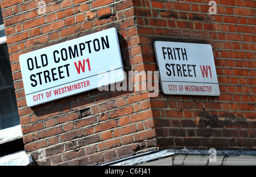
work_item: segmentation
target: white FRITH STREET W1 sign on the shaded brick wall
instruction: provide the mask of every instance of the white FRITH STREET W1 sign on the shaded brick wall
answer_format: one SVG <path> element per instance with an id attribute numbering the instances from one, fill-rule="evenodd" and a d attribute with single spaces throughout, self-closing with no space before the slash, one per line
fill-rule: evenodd
<path id="1" fill-rule="evenodd" d="M 154 50 L 164 94 L 220 95 L 210 44 L 155 41 Z"/>

